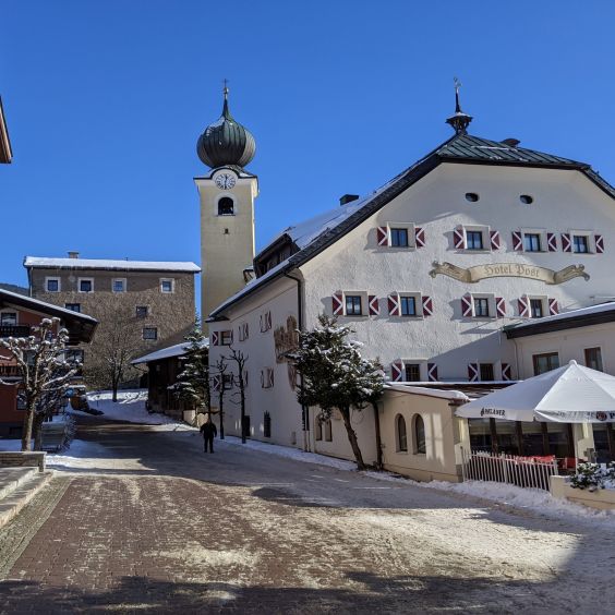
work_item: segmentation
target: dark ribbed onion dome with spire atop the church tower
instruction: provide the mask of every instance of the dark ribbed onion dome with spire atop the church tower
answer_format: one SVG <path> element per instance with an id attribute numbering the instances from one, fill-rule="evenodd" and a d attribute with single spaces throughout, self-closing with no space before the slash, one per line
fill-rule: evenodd
<path id="1" fill-rule="evenodd" d="M 216 169 L 229 165 L 245 167 L 254 158 L 256 142 L 229 111 L 229 88 L 225 85 L 225 105 L 220 119 L 209 124 L 196 143 L 198 158 Z"/>

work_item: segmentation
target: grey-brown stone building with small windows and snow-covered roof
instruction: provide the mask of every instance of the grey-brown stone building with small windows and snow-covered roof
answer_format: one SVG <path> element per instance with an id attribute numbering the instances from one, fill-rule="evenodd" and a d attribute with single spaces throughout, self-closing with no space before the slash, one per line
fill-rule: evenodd
<path id="1" fill-rule="evenodd" d="M 99 321 L 92 347 L 84 350 L 86 376 L 108 353 L 111 338 L 138 354 L 178 343 L 194 323 L 194 263 L 106 261 L 26 256 L 31 296 Z M 133 373 L 134 375 L 134 373 Z"/>

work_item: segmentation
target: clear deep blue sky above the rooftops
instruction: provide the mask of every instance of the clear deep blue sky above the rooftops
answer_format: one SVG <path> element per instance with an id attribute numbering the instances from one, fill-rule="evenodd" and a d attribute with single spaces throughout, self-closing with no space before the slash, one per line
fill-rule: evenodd
<path id="1" fill-rule="evenodd" d="M 198 263 L 204 167 L 221 110 L 256 138 L 256 241 L 376 189 L 451 134 L 591 162 L 615 183 L 608 1 L 0 0 L 0 281 L 23 256 Z"/>

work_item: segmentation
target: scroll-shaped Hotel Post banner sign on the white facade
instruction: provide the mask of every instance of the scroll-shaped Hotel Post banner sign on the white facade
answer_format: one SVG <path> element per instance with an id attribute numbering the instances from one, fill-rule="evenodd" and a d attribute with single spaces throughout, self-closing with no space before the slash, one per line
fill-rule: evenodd
<path id="1" fill-rule="evenodd" d="M 433 263 L 433 269 L 430 276 L 435 278 L 438 274 L 448 276 L 466 284 L 475 284 L 480 280 L 489 278 L 529 278 L 542 281 L 544 284 L 563 284 L 572 278 L 581 277 L 586 281 L 590 279 L 586 274 L 583 265 L 569 265 L 558 272 L 547 269 L 546 267 L 538 267 L 536 265 L 527 265 L 524 263 L 491 263 L 489 265 L 475 265 L 474 267 L 458 267 L 451 263 Z"/>

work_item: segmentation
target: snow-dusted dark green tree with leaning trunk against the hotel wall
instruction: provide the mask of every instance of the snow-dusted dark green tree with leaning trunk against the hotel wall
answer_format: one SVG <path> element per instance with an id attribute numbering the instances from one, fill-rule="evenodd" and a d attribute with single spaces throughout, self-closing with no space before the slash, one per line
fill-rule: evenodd
<path id="1" fill-rule="evenodd" d="M 311 331 L 299 331 L 299 349 L 288 355 L 302 375 L 297 398 L 304 406 L 317 406 L 321 420 L 328 420 L 334 409 L 339 410 L 357 467 L 363 470 L 365 463 L 350 412 L 377 401 L 385 374 L 378 361 L 361 357 L 360 341 L 347 339 L 354 333 L 351 327 L 338 325 L 325 314 L 318 323 Z"/>

